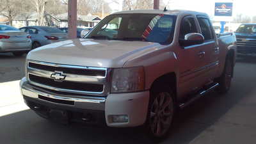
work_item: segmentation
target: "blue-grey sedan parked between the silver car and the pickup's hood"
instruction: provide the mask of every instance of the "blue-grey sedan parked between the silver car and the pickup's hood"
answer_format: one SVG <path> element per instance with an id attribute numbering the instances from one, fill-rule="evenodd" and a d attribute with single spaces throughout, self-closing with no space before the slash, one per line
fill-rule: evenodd
<path id="1" fill-rule="evenodd" d="M 58 28 L 49 26 L 26 26 L 20 28 L 20 31 L 31 35 L 33 49 L 42 45 L 67 40 L 67 33 L 64 33 Z"/>

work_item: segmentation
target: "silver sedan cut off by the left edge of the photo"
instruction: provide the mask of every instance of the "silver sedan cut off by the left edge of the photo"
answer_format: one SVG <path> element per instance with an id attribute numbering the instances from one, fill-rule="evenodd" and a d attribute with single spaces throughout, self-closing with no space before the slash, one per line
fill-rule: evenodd
<path id="1" fill-rule="evenodd" d="M 0 52 L 12 52 L 15 56 L 31 50 L 31 39 L 27 33 L 8 25 L 0 25 Z"/>

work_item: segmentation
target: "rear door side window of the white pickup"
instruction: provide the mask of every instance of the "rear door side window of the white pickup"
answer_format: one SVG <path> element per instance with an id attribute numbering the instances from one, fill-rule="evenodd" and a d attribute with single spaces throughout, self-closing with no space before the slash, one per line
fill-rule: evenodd
<path id="1" fill-rule="evenodd" d="M 204 36 L 204 40 L 207 41 L 207 40 L 214 39 L 212 35 L 211 23 L 209 19 L 204 17 L 198 17 L 198 22 L 200 24 L 200 28 L 202 31 L 202 35 Z"/>

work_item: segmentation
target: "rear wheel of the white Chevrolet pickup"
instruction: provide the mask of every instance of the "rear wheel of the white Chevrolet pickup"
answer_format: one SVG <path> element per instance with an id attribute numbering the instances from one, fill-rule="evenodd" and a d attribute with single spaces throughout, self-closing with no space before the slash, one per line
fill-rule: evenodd
<path id="1" fill-rule="evenodd" d="M 223 74 L 221 74 L 221 77 L 218 80 L 218 82 L 220 83 L 218 91 L 220 93 L 227 93 L 228 90 L 230 90 L 233 72 L 234 66 L 232 60 L 231 58 L 227 58 Z"/>

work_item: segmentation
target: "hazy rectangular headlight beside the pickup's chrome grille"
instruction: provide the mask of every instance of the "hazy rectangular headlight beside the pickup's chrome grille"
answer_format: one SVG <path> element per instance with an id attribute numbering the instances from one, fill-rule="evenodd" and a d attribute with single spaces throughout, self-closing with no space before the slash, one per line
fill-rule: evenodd
<path id="1" fill-rule="evenodd" d="M 138 92 L 145 88 L 144 67 L 114 68 L 112 93 Z"/>

